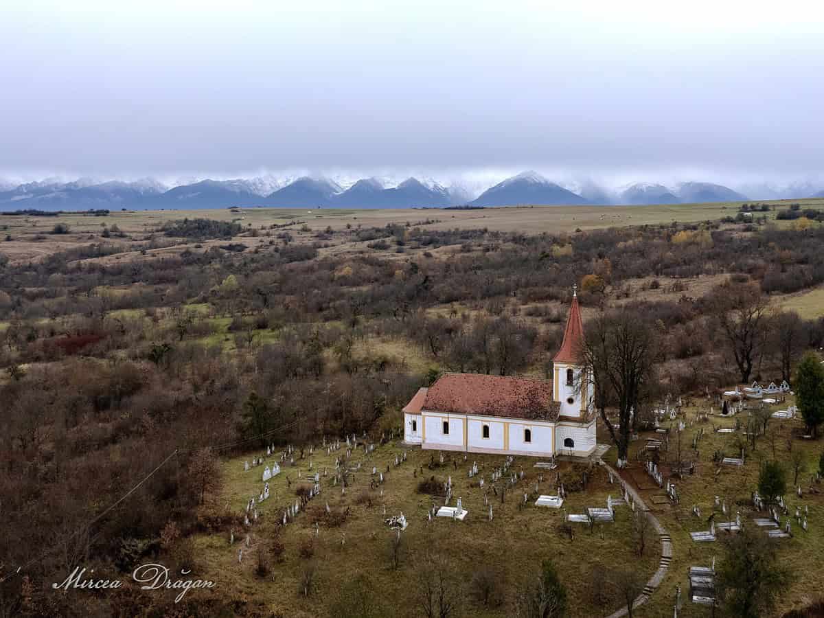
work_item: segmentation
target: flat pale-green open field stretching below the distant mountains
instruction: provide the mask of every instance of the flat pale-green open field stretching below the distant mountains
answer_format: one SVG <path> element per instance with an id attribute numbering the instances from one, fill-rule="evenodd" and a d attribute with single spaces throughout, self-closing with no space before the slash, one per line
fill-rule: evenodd
<path id="1" fill-rule="evenodd" d="M 784 208 L 789 204 L 802 207 L 824 208 L 824 199 L 777 200 L 764 202 Z M 60 214 L 56 217 L 33 217 L 25 215 L 0 216 L 0 237 L 11 240 L 0 241 L 0 252 L 12 261 L 39 260 L 59 250 L 73 246 L 88 245 L 92 242 L 121 247 L 129 250 L 134 241 L 145 241 L 153 237 L 157 248 L 148 250 L 149 255 L 174 255 L 195 243 L 173 241 L 154 234 L 166 222 L 181 218 L 209 218 L 219 221 L 238 222 L 251 230 L 260 230 L 272 225 L 289 225 L 288 231 L 299 240 L 305 224 L 311 232 L 319 232 L 326 227 L 343 230 L 349 227 L 385 227 L 389 224 L 424 226 L 432 230 L 489 229 L 499 232 L 519 232 L 540 234 L 574 232 L 575 230 L 602 229 L 605 227 L 626 227 L 667 224 L 672 222 L 702 222 L 734 216 L 742 203 L 717 204 L 674 204 L 658 206 L 519 206 L 508 208 L 483 208 L 475 210 L 447 210 L 442 208 L 399 208 L 399 209 L 315 209 L 304 208 L 242 208 L 237 210 L 147 210 L 115 211 L 106 217 L 87 214 Z M 775 210 L 757 213 L 775 220 Z M 55 224 L 68 225 L 68 234 L 49 233 Z M 789 226 L 790 221 L 777 222 L 780 227 Z M 129 238 L 101 237 L 104 227 L 117 226 Z M 262 245 L 264 238 L 252 239 L 250 233 L 236 236 L 235 241 L 245 241 L 250 246 Z M 197 243 L 205 250 L 220 244 L 218 241 Z M 340 245 L 340 241 L 333 243 Z M 352 245 L 345 243 L 344 245 Z M 357 243 L 353 246 L 363 246 Z M 138 251 L 133 254 L 114 256 L 117 260 L 142 259 Z"/>

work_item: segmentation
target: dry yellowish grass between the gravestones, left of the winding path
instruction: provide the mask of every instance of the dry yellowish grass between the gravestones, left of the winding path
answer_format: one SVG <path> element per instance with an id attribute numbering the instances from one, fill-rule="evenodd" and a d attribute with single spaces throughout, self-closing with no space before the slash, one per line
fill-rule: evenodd
<path id="1" fill-rule="evenodd" d="M 560 514 L 551 510 L 536 508 L 517 508 L 522 502 L 522 488 L 534 490 L 538 471 L 532 467 L 536 460 L 518 457 L 513 464 L 514 471 L 523 467 L 526 480 L 520 482 L 512 493 L 508 494 L 503 505 L 499 499 L 490 497 L 494 508 L 494 521 L 487 519 L 487 508 L 483 504 L 482 490 L 471 486 L 467 471 L 473 460 L 485 468 L 487 479 L 493 466 L 503 462 L 500 456 L 474 456 L 464 462 L 461 455 L 456 460 L 457 468 L 447 454 L 447 466 L 438 471 L 428 471 L 426 465 L 433 454 L 419 448 L 407 449 L 409 459 L 395 467 L 394 459 L 403 448 L 398 444 L 377 447 L 371 456 L 364 456 L 363 450 L 352 456 L 348 465 L 362 462 L 363 467 L 354 475 L 354 484 L 345 495 L 338 487 L 330 486 L 330 477 L 323 480 L 323 492 L 315 499 L 312 507 L 323 506 L 328 501 L 330 508 L 350 509 L 348 520 L 341 526 L 329 529 L 321 526 L 320 536 L 316 541 L 316 560 L 318 563 L 317 593 L 309 598 L 297 594 L 298 578 L 306 560 L 298 555 L 297 547 L 302 538 L 312 534 L 311 517 L 301 513 L 297 521 L 289 524 L 283 531 L 282 541 L 286 546 L 282 564 L 273 564 L 273 574 L 266 580 L 257 578 L 254 573 L 254 552 L 238 564 L 239 545 L 229 547 L 228 533 L 220 536 L 199 536 L 196 539 L 200 562 L 205 569 L 204 576 L 213 578 L 218 586 L 227 593 L 254 599 L 265 611 L 279 611 L 284 616 L 323 616 L 328 604 L 341 583 L 349 581 L 353 574 L 366 574 L 374 583 L 380 596 L 386 602 L 386 616 L 417 616 L 415 602 L 416 563 L 428 549 L 437 549 L 452 559 L 452 568 L 461 582 L 462 592 L 468 592 L 468 584 L 475 569 L 482 565 L 497 570 L 502 578 L 503 589 L 508 594 L 527 574 L 537 569 L 541 560 L 551 558 L 559 568 L 561 578 L 569 588 L 573 616 L 597 616 L 606 613 L 603 608 L 593 606 L 590 601 L 588 574 L 592 566 L 601 563 L 608 569 L 615 569 L 632 561 L 644 574 L 651 574 L 658 562 L 658 547 L 648 550 L 644 559 L 638 560 L 630 546 L 629 510 L 619 508 L 618 521 L 604 525 L 604 539 L 597 529 L 594 534 L 586 531 L 583 525 L 576 528 L 576 538 L 559 535 L 557 526 Z M 344 455 L 345 451 L 327 456 L 325 452 L 311 456 L 315 470 L 334 467 L 334 456 Z M 265 502 L 261 511 L 263 516 L 251 528 L 255 544 L 265 543 L 272 538 L 280 509 L 295 499 L 297 470 L 307 475 L 308 455 L 300 466 L 286 466 L 283 472 L 270 483 L 272 497 Z M 240 512 L 251 494 L 260 492 L 262 467 L 253 471 L 243 471 L 243 461 L 249 457 L 236 457 L 223 466 L 225 491 L 218 499 L 221 505 L 228 504 L 233 512 Z M 274 461 L 274 458 L 269 458 Z M 391 470 L 386 473 L 386 465 Z M 377 466 L 386 477 L 383 485 L 384 495 L 380 489 L 372 491 L 373 506 L 368 507 L 358 499 L 368 491 L 372 466 Z M 452 475 L 453 494 L 462 496 L 463 504 L 470 512 L 465 522 L 452 522 L 438 519 L 428 523 L 427 509 L 433 499 L 417 494 L 415 488 L 420 474 L 414 476 L 414 469 L 420 471 L 424 466 L 425 475 L 437 475 L 446 479 Z M 562 466 L 569 466 L 563 464 Z M 293 485 L 287 487 L 287 477 Z M 550 487 L 549 474 L 545 474 L 541 484 L 541 493 L 554 493 Z M 554 476 L 553 476 L 554 480 Z M 601 506 L 606 503 L 606 495 L 617 494 L 615 485 L 608 485 L 603 471 L 597 471 L 586 494 L 569 494 L 567 505 L 570 512 L 583 512 L 587 506 Z M 533 499 L 534 500 L 534 499 Z M 386 504 L 386 513 L 397 515 L 403 512 L 410 520 L 410 527 L 403 534 L 403 558 L 399 569 L 391 569 L 389 543 L 394 532 L 383 523 L 382 505 Z M 454 504 L 454 502 L 453 502 Z M 341 545 L 345 533 L 346 543 Z M 241 536 L 236 531 L 236 537 Z M 321 592 L 322 591 L 322 592 Z M 619 602 L 613 605 L 616 607 Z M 465 615 L 503 616 L 508 605 L 490 610 L 477 606 L 467 600 L 462 603 Z"/>

